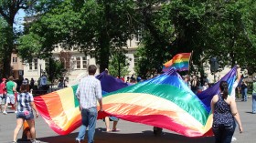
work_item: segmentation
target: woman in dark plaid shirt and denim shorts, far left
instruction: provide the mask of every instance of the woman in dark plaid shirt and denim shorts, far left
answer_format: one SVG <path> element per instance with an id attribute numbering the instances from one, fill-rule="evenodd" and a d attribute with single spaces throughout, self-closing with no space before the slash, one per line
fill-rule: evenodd
<path id="1" fill-rule="evenodd" d="M 22 128 L 25 120 L 27 121 L 27 124 L 30 128 L 30 133 L 32 137 L 31 142 L 40 142 L 36 139 L 35 119 L 32 109 L 34 109 L 34 111 L 36 112 L 36 117 L 38 117 L 38 111 L 34 103 L 34 98 L 27 91 L 27 89 L 29 89 L 27 87 L 29 87 L 29 85 L 27 85 L 27 83 L 23 83 L 20 87 L 20 93 L 17 95 L 16 128 L 14 131 L 13 143 L 16 143 L 18 132 L 20 128 Z"/>

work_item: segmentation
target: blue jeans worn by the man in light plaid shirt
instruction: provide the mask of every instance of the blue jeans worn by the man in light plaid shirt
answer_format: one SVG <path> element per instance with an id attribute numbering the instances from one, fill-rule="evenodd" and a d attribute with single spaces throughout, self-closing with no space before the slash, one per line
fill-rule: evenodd
<path id="1" fill-rule="evenodd" d="M 97 121 L 97 108 L 91 107 L 91 108 L 83 108 L 81 110 L 81 127 L 80 132 L 77 140 L 83 140 L 86 128 L 88 128 L 88 143 L 93 143 L 94 133 L 95 133 L 95 127 L 96 127 L 96 121 Z"/>

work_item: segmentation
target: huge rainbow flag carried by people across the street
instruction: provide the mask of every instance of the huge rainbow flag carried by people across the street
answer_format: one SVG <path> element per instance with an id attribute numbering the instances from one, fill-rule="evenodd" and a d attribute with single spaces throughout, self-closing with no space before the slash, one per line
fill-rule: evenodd
<path id="1" fill-rule="evenodd" d="M 228 80 L 232 84 L 236 74 L 234 68 L 221 80 Z M 48 126 L 60 135 L 69 134 L 81 125 L 79 103 L 74 95 L 76 88 L 67 87 L 35 97 L 40 115 Z M 112 115 L 132 122 L 166 128 L 187 137 L 212 136 L 212 114 L 208 99 L 218 91 L 219 89 L 208 88 L 201 95 L 195 95 L 176 70 L 171 69 L 158 77 L 133 86 L 126 85 L 103 95 L 104 112 L 100 112 L 98 117 Z"/>

